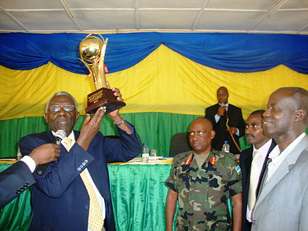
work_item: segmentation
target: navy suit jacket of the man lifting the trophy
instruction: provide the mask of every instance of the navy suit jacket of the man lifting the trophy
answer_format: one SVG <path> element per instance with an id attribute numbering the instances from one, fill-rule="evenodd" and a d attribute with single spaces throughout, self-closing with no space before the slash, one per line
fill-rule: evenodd
<path id="1" fill-rule="evenodd" d="M 142 150 L 137 133 L 128 135 L 118 129 L 120 139 L 108 139 L 99 132 L 92 139 L 86 152 L 77 143 L 70 152 L 61 145 L 60 157 L 51 162 L 42 176 L 34 173 L 32 189 L 34 216 L 29 230 L 78 231 L 88 230 L 89 196 L 79 174 L 88 168 L 94 184 L 105 200 L 106 230 L 115 230 L 110 181 L 107 163 L 133 159 Z M 79 132 L 74 131 L 75 138 Z M 27 135 L 19 141 L 21 153 L 53 139 L 51 131 Z"/>

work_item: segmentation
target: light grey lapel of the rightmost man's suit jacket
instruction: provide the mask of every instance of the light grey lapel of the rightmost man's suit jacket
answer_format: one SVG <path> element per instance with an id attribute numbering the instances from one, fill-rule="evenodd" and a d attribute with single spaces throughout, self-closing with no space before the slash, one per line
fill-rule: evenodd
<path id="1" fill-rule="evenodd" d="M 293 150 L 290 152 L 290 154 L 285 157 L 281 165 L 276 169 L 272 177 L 266 182 L 266 185 L 264 185 L 264 188 L 261 191 L 261 194 L 257 200 L 257 206 L 259 203 L 266 198 L 268 193 L 272 191 L 272 189 L 279 183 L 279 181 L 288 173 L 290 172 L 290 169 L 294 166 L 296 163 L 296 160 L 298 159 L 298 156 L 301 152 L 307 147 L 308 145 L 308 137 L 305 135 L 305 137 L 298 143 L 297 146 L 293 148 Z"/>

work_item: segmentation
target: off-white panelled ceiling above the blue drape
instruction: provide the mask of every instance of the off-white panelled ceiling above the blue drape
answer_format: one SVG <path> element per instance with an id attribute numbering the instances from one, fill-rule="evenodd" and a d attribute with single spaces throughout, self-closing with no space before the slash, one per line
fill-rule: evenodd
<path id="1" fill-rule="evenodd" d="M 308 0 L 0 0 L 0 31 L 308 34 Z"/>

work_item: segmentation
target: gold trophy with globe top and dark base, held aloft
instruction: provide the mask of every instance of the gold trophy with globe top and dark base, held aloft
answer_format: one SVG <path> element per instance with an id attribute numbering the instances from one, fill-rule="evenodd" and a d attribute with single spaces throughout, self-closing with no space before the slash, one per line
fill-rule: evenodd
<path id="1" fill-rule="evenodd" d="M 99 107 L 106 107 L 105 113 L 110 113 L 120 107 L 124 107 L 126 104 L 116 100 L 114 92 L 107 88 L 104 59 L 108 38 L 104 40 L 103 36 L 101 36 L 101 40 L 97 36 L 93 36 L 94 34 L 101 36 L 99 33 L 90 33 L 79 44 L 81 57 L 79 60 L 90 71 L 96 89 L 95 92 L 88 94 L 88 107 L 84 111 L 94 114 Z"/>

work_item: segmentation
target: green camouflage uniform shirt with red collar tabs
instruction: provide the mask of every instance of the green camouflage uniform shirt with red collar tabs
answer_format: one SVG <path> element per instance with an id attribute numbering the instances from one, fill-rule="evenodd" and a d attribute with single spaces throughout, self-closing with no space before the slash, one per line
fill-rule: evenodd
<path id="1" fill-rule="evenodd" d="M 212 151 L 201 169 L 194 152 L 178 154 L 166 185 L 179 193 L 177 230 L 232 230 L 227 199 L 242 192 L 233 154 Z"/>

